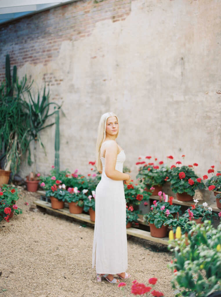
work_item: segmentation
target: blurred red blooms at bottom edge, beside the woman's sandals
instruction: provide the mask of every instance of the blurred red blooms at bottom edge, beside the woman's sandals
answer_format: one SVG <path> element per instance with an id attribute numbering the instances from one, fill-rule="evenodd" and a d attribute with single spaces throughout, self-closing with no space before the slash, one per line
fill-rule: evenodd
<path id="1" fill-rule="evenodd" d="M 156 277 L 151 277 L 149 279 L 149 285 L 155 285 L 157 282 Z M 121 290 L 124 290 L 124 287 L 126 286 L 125 282 L 120 282 L 118 287 L 121 288 Z M 151 291 L 152 290 L 152 291 Z M 132 286 L 131 286 L 131 293 L 133 295 L 143 295 L 146 294 L 146 296 L 150 296 L 148 293 L 151 293 L 152 297 L 161 297 L 164 296 L 162 292 L 153 290 L 152 287 L 146 286 L 143 283 L 139 283 L 136 279 L 132 281 Z"/>

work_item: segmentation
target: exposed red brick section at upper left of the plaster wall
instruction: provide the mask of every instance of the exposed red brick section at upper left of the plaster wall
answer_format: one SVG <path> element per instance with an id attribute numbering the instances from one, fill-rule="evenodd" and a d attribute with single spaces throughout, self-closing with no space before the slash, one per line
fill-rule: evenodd
<path id="1" fill-rule="evenodd" d="M 7 53 L 18 68 L 47 64 L 58 56 L 62 41 L 87 37 L 97 22 L 124 20 L 130 11 L 130 0 L 80 0 L 0 25 L 0 81 Z"/>

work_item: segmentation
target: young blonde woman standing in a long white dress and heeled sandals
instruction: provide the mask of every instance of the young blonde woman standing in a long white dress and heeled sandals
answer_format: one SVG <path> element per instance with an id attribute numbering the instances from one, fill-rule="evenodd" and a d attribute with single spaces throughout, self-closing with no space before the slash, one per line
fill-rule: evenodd
<path id="1" fill-rule="evenodd" d="M 123 173 L 124 151 L 116 143 L 119 132 L 117 116 L 101 116 L 97 137 L 97 170 L 102 173 L 95 193 L 95 226 L 92 267 L 96 258 L 97 281 L 105 277 L 108 282 L 120 282 L 127 274 L 126 201 L 124 184 L 130 175 Z"/>

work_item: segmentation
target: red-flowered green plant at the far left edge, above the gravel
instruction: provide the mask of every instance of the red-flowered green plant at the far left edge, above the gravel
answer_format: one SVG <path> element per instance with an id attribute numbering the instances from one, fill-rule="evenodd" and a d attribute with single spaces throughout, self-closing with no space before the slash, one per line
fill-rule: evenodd
<path id="1" fill-rule="evenodd" d="M 9 219 L 13 214 L 22 214 L 22 210 L 15 204 L 18 200 L 18 189 L 12 185 L 3 185 L 0 188 L 0 221 Z"/>

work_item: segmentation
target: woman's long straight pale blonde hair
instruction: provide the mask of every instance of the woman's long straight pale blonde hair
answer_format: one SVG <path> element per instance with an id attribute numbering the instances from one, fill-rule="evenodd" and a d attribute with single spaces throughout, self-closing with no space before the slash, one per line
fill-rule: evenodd
<path id="1" fill-rule="evenodd" d="M 106 138 L 106 124 L 107 124 L 107 119 L 110 116 L 116 116 L 115 113 L 113 112 L 107 112 L 104 113 L 101 118 L 100 118 L 100 122 L 98 125 L 98 129 L 97 129 L 97 144 L 96 144 L 96 167 L 98 171 L 102 170 L 102 163 L 101 163 L 101 159 L 100 159 L 100 148 L 102 146 L 102 143 L 104 142 L 105 138 Z M 118 121 L 118 118 L 116 116 L 116 119 Z M 118 131 L 119 132 L 119 131 Z M 116 137 L 118 136 L 118 132 L 116 134 Z"/>

